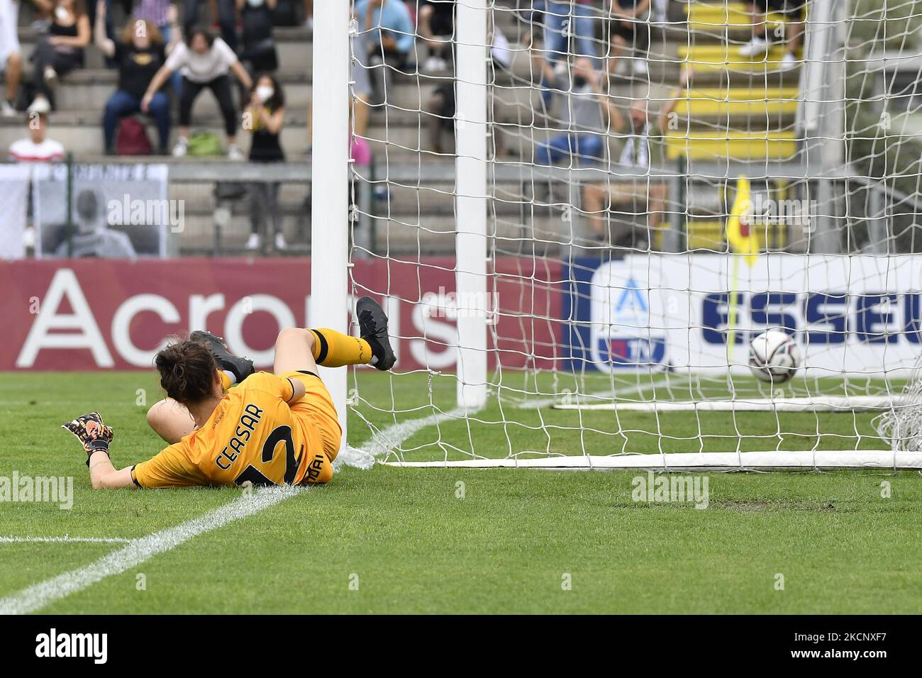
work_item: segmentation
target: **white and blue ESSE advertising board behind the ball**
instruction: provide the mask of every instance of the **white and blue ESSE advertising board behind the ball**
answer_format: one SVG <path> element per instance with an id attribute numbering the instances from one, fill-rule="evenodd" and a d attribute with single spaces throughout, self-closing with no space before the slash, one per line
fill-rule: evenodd
<path id="1" fill-rule="evenodd" d="M 573 370 L 746 371 L 780 328 L 807 374 L 896 376 L 922 351 L 922 257 L 638 255 L 564 270 Z"/>

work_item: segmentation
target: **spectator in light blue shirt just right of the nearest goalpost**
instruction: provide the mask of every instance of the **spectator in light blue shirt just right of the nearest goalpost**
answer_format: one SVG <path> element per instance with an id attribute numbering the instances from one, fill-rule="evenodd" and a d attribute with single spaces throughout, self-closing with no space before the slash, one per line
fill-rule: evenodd
<path id="1" fill-rule="evenodd" d="M 390 71 L 407 67 L 414 42 L 413 21 L 400 0 L 358 0 L 355 13 L 360 30 L 367 33 L 364 42 L 368 54 L 362 61 L 374 71 L 372 105 L 380 105 L 388 89 Z"/>

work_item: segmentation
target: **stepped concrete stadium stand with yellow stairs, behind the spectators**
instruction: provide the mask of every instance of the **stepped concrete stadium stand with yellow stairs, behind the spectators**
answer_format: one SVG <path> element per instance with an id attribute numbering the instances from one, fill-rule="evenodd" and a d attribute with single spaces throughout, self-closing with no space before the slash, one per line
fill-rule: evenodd
<path id="1" fill-rule="evenodd" d="M 275 75 L 285 91 L 286 119 L 279 138 L 287 161 L 273 163 L 279 166 L 271 168 L 266 174 L 259 168 L 249 169 L 246 162 L 235 163 L 231 167 L 228 161 L 219 157 L 176 159 L 157 155 L 144 158 L 144 161 L 170 165 L 171 198 L 185 201 L 185 228 L 176 236 L 178 242 L 171 243 L 171 252 L 211 254 L 220 251 L 232 254 L 246 251 L 251 234 L 250 211 L 246 201 L 236 197 L 241 191 L 229 185 L 228 181 L 245 182 L 247 176 L 271 178 L 281 183 L 278 203 L 281 231 L 289 244 L 286 251 L 295 254 L 310 251 L 307 242 L 310 232 L 308 132 L 312 49 L 311 31 L 305 26 L 309 22 L 304 16 L 309 3 L 302 7 L 301 3 L 279 2 L 279 8 L 283 4 L 286 15 L 292 14 L 294 9 L 299 15 L 296 19 L 286 17 L 285 20 L 285 23 L 296 25 L 277 25 L 272 34 L 278 59 Z M 207 16 L 208 4 L 196 5 L 200 5 L 197 8 L 199 13 Z M 565 6 L 567 3 L 550 5 Z M 578 5 L 580 12 L 586 16 L 603 18 L 608 16 L 610 0 L 580 2 Z M 621 5 L 630 6 L 631 3 Z M 410 0 L 407 6 L 412 20 L 416 22 L 420 3 Z M 528 11 L 523 11 L 523 8 Z M 561 119 L 559 113 L 553 111 L 553 106 L 560 101 L 553 100 L 561 97 L 551 96 L 556 94 L 551 91 L 555 85 L 553 74 L 550 73 L 549 77 L 547 73 L 553 65 L 540 56 L 535 58 L 535 50 L 541 47 L 543 35 L 540 27 L 536 28 L 540 17 L 533 16 L 540 12 L 531 10 L 540 8 L 545 8 L 545 4 L 531 0 L 505 0 L 497 3 L 497 10 L 493 13 L 491 110 L 496 124 L 493 146 L 497 175 L 496 199 L 491 210 L 498 236 L 514 239 L 524 228 L 529 228 L 553 249 L 555 234 L 560 231 L 561 203 L 569 202 L 578 207 L 582 202 L 579 191 L 562 199 L 561 192 L 565 194 L 568 187 L 561 185 L 561 181 L 551 181 L 542 191 L 534 185 L 534 181 L 523 182 L 521 178 L 515 178 L 515 172 L 503 172 L 508 169 L 504 167 L 505 161 L 509 161 L 509 167 L 518 161 L 538 164 L 536 149 L 560 134 Z M 644 62 L 642 67 L 619 68 L 619 72 L 602 79 L 612 101 L 620 108 L 622 119 L 630 119 L 632 102 L 638 100 L 648 101 L 650 120 L 658 121 L 666 108 L 675 114 L 673 124 L 662 130 L 666 166 L 678 167 L 688 158 L 764 161 L 793 156 L 795 141 L 792 126 L 798 68 L 782 71 L 774 67 L 771 60 L 783 58 L 780 52 L 783 47 L 774 47 L 779 52 L 769 54 L 767 63 L 762 55 L 740 55 L 740 50 L 751 37 L 750 18 L 743 5 L 735 2 L 654 2 L 651 11 L 649 23 L 644 19 L 644 30 L 636 31 L 648 32 L 643 41 L 648 44 L 637 45 L 636 51 L 632 52 L 629 44 L 625 52 L 623 35 L 617 40 L 615 36 L 607 35 L 608 29 L 601 28 L 606 25 L 603 20 L 595 21 L 598 28 L 593 44 L 598 48 L 597 53 L 602 55 L 612 54 L 611 45 L 617 42 L 621 56 L 633 55 L 634 63 Z M 114 15 L 112 26 L 120 30 L 126 20 L 122 6 L 113 3 L 110 12 Z M 181 8 L 179 16 L 187 18 L 189 15 Z M 33 7 L 23 4 L 18 17 L 18 39 L 27 82 L 20 89 L 27 92 L 34 91 L 28 82 L 29 64 L 41 40 L 41 33 L 33 27 L 36 18 L 38 15 Z M 226 32 L 226 17 L 221 30 L 218 29 L 218 18 L 211 19 L 215 21 L 213 32 Z M 361 18 L 357 21 L 361 24 Z M 770 21 L 774 22 L 770 26 L 774 26 L 783 24 L 785 18 L 770 15 Z M 587 20 L 586 23 L 593 22 Z M 645 30 L 647 26 L 649 30 Z M 417 33 L 419 36 L 419 30 Z M 502 48 L 504 59 L 498 58 L 495 52 L 497 41 L 501 39 L 505 45 Z M 581 43 L 589 44 L 585 41 Z M 361 47 L 356 47 L 356 54 L 361 54 L 361 50 Z M 589 51 L 588 47 L 586 51 Z M 50 116 L 54 137 L 74 161 L 137 161 L 137 158 L 103 154 L 102 104 L 115 91 L 118 72 L 108 67 L 106 59 L 94 46 L 89 46 L 85 52 L 83 67 L 60 78 L 55 89 L 55 110 Z M 361 143 L 362 154 L 370 152 L 372 162 L 366 175 L 367 181 L 356 186 L 357 199 L 362 205 L 359 210 L 361 237 L 372 251 L 384 244 L 390 252 L 409 250 L 420 254 L 443 254 L 454 250 L 454 149 L 441 142 L 433 146 L 431 142 L 431 138 L 435 137 L 431 133 L 433 116 L 442 123 L 434 126 L 441 126 L 451 136 L 450 118 L 445 113 L 452 113 L 453 101 L 448 106 L 442 97 L 437 100 L 437 105 L 428 103 L 435 101 L 433 94 L 451 90 L 453 65 L 446 56 L 450 54 L 434 50 L 431 42 L 418 37 L 407 54 L 402 70 L 389 71 L 392 82 L 387 85 L 385 100 L 372 101 L 367 130 Z M 606 65 L 600 64 L 599 70 L 604 73 Z M 692 71 L 693 82 L 689 77 Z M 543 93 L 536 87 L 539 83 L 545 86 Z M 20 110 L 23 110 L 30 97 L 20 94 L 19 99 Z M 177 102 L 175 97 L 172 99 L 170 147 L 175 143 L 177 133 Z M 723 101 L 725 99 L 727 101 Z M 240 101 L 238 97 L 238 108 Z M 138 116 L 137 119 L 146 125 L 148 137 L 157 139 L 153 121 L 148 116 Z M 206 95 L 196 101 L 192 126 L 196 130 L 215 132 L 221 129 L 219 106 L 213 97 Z M 357 123 L 357 127 L 365 128 L 364 121 Z M 20 137 L 22 117 L 0 118 L 0 147 L 8 149 Z M 223 141 L 223 136 L 219 137 Z M 244 157 L 248 155 L 250 137 L 248 134 L 239 136 Z M 630 135 L 612 133 L 608 137 L 608 148 L 597 161 L 601 169 L 609 161 L 617 161 L 621 157 Z M 752 143 L 752 138 L 761 141 Z M 420 176 L 420 159 L 426 165 L 425 177 Z M 629 180 L 630 177 L 625 179 Z M 785 190 L 784 186 L 775 189 Z M 687 232 L 691 248 L 726 249 L 724 219 L 729 199 L 727 191 L 726 182 L 692 181 L 685 187 L 683 202 L 679 205 L 677 191 L 664 188 L 664 193 L 668 195 L 660 197 L 657 194 L 657 198 L 666 203 L 662 207 L 663 222 L 681 220 L 680 229 Z M 633 202 L 637 203 L 637 200 Z M 628 220 L 645 228 L 649 224 L 647 215 L 641 213 L 644 211 L 647 210 L 643 205 L 638 208 L 635 204 L 633 208 L 622 209 L 612 202 L 605 204 L 604 216 L 612 221 Z M 597 224 L 598 214 L 585 216 Z M 656 217 L 653 225 L 656 226 L 659 221 Z M 767 237 L 769 240 L 772 238 L 770 233 Z M 772 240 L 765 245 L 782 246 L 784 243 Z M 667 244 L 656 233 L 651 246 L 658 248 Z"/>

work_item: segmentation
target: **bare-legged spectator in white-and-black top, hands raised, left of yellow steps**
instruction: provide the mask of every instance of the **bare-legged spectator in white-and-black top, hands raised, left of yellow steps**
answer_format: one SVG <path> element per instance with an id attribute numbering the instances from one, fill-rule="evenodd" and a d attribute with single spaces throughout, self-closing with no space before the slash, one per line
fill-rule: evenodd
<path id="1" fill-rule="evenodd" d="M 628 119 L 612 107 L 611 126 L 624 136 L 624 146 L 618 163 L 630 168 L 631 179 L 613 181 L 607 184 L 585 184 L 583 187 L 583 209 L 589 214 L 593 230 L 602 238 L 606 234 L 604 215 L 617 205 L 628 206 L 632 213 L 646 213 L 646 232 L 634 233 L 630 225 L 624 225 L 611 233 L 611 244 L 615 246 L 639 246 L 645 248 L 652 234 L 663 219 L 667 197 L 667 184 L 655 176 L 656 167 L 663 166 L 662 132 L 668 126 L 669 113 L 675 107 L 671 101 L 659 117 L 658 129 L 651 124 L 647 102 L 636 100 L 631 104 Z M 651 170 L 653 170 L 652 173 Z M 617 169 L 614 172 L 617 174 Z"/>

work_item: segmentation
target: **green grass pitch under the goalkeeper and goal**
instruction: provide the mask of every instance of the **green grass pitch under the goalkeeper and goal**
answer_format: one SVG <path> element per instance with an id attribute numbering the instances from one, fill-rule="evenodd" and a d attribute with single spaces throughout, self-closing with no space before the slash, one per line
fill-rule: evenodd
<path id="1" fill-rule="evenodd" d="M 568 383 L 569 382 L 569 383 Z M 543 393 L 727 397 L 727 384 L 541 375 Z M 869 415 L 552 410 L 502 375 L 475 416 L 420 429 L 403 458 L 524 451 L 614 454 L 880 448 Z M 452 375 L 350 376 L 349 442 L 452 410 Z M 816 386 L 815 384 L 813 385 Z M 755 393 L 745 380 L 738 393 Z M 792 385 L 792 394 L 810 385 Z M 800 391 L 798 392 L 798 388 Z M 748 389 L 748 390 L 747 390 Z M 124 466 L 161 445 L 145 421 L 154 375 L 0 376 L 0 476 L 73 476 L 74 506 L 0 504 L 0 537 L 135 539 L 227 506 L 240 491 L 93 492 L 61 422 L 100 410 Z M 395 413 L 396 412 L 396 413 Z M 806 447 L 805 447 L 806 446 Z M 328 486 L 208 531 L 40 613 L 919 613 L 916 473 L 710 473 L 709 506 L 632 501 L 635 471 L 346 469 Z M 881 483 L 890 484 L 882 496 Z M 463 484 L 461 484 L 463 483 Z M 463 498 L 459 497 L 463 488 Z M 92 564 L 118 543 L 0 541 L 0 599 Z M 142 577 L 143 576 L 143 577 Z M 779 582 L 783 577 L 784 588 Z M 139 590 L 139 582 L 144 586 Z"/>

